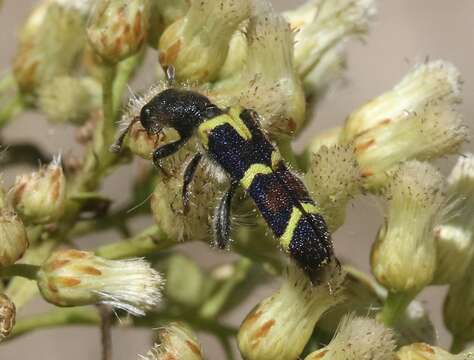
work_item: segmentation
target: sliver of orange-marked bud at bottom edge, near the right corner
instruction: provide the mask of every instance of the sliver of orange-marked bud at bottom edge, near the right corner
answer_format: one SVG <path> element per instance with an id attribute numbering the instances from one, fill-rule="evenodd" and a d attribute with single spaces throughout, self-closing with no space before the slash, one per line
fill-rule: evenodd
<path id="1" fill-rule="evenodd" d="M 406 345 L 397 351 L 399 360 L 468 360 L 474 354 L 453 355 L 440 347 L 426 343 Z"/>

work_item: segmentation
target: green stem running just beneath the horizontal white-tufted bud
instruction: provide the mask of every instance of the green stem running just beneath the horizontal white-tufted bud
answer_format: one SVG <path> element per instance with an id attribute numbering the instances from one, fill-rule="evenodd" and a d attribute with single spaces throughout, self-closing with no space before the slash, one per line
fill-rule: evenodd
<path id="1" fill-rule="evenodd" d="M 61 325 L 98 325 L 100 316 L 90 307 L 59 308 L 40 315 L 20 319 L 9 340 L 28 332 Z"/>

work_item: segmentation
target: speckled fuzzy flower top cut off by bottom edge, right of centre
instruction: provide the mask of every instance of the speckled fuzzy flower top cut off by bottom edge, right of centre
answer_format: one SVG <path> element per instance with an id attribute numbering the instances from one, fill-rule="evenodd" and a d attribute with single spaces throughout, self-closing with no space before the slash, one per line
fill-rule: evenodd
<path id="1" fill-rule="evenodd" d="M 377 321 L 348 315 L 331 342 L 305 360 L 395 360 L 392 331 Z"/>

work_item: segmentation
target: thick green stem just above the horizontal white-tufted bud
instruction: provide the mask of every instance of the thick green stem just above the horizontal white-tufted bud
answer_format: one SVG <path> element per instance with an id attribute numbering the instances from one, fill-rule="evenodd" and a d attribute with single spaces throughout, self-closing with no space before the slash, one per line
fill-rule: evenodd
<path id="1" fill-rule="evenodd" d="M 134 237 L 104 245 L 95 250 L 96 255 L 107 259 L 123 259 L 150 255 L 176 245 L 158 226 L 153 225 Z"/>

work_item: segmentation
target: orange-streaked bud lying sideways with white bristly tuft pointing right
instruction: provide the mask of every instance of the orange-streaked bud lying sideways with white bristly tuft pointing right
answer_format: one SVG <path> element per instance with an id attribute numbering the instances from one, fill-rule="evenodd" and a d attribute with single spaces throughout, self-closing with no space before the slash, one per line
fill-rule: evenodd
<path id="1" fill-rule="evenodd" d="M 54 252 L 38 271 L 38 288 L 52 304 L 108 304 L 136 316 L 156 308 L 162 284 L 143 259 L 106 260 L 78 250 Z"/>

